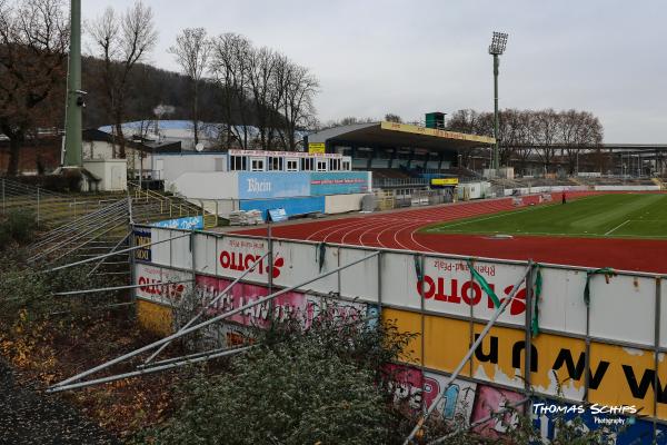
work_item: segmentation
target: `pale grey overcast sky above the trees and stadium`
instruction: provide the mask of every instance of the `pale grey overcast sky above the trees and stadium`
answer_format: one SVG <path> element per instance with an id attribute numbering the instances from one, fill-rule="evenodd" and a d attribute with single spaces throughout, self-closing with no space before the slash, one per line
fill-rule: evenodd
<path id="1" fill-rule="evenodd" d="M 133 0 L 83 0 L 83 19 Z M 576 108 L 606 142 L 667 142 L 667 1 L 663 0 L 145 0 L 159 44 L 182 28 L 238 32 L 312 70 L 321 121 L 394 112 L 492 110 L 494 30 L 509 33 L 500 107 Z"/>

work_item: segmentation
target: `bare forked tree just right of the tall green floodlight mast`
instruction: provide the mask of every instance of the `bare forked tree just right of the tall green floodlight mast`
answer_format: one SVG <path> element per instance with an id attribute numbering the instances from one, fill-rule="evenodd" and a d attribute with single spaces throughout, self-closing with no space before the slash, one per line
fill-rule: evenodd
<path id="1" fill-rule="evenodd" d="M 119 16 L 109 7 L 87 29 L 93 39 L 96 55 L 104 61 L 101 87 L 106 90 L 106 106 L 113 119 L 118 157 L 125 158 L 122 122 L 126 118 L 130 72 L 155 48 L 158 38 L 152 9 L 139 0 Z"/>

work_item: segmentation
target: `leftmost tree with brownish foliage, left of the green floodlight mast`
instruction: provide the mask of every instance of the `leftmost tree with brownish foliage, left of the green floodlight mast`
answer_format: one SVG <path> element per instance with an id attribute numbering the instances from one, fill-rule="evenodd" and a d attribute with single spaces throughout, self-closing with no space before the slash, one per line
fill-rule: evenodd
<path id="1" fill-rule="evenodd" d="M 0 131 L 9 138 L 8 175 L 16 175 L 26 136 L 56 127 L 48 99 L 63 85 L 69 20 L 60 0 L 0 0 Z"/>

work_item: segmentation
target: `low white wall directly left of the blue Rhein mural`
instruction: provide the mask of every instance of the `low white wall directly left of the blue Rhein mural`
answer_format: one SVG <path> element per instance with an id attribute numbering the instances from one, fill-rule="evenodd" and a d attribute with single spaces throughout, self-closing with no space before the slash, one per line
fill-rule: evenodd
<path id="1" fill-rule="evenodd" d="M 187 198 L 238 199 L 237 171 L 189 171 L 171 182 L 171 190 Z"/>

